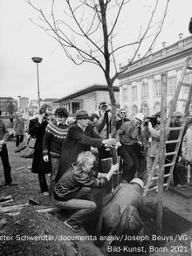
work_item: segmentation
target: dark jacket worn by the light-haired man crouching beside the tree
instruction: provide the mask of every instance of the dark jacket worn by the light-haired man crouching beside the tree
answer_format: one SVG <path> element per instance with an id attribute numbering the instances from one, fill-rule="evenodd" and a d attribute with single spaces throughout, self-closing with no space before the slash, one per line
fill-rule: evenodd
<path id="1" fill-rule="evenodd" d="M 105 186 L 107 182 L 106 177 L 98 178 L 94 172 L 88 174 L 81 166 L 74 163 L 55 185 L 54 198 L 58 201 L 66 201 L 74 198 L 82 187 L 98 188 Z"/>

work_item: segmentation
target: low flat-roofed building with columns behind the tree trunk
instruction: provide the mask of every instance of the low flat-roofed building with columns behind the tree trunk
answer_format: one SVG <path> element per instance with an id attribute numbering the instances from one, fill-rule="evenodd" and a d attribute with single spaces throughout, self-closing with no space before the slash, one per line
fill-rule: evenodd
<path id="1" fill-rule="evenodd" d="M 119 87 L 113 86 L 114 97 L 117 107 L 120 107 Z M 80 108 L 92 114 L 99 108 L 99 103 L 106 101 L 110 103 L 108 87 L 102 85 L 88 86 L 77 93 L 72 93 L 64 98 L 56 100 L 60 107 L 65 107 L 71 115 L 74 115 Z"/>

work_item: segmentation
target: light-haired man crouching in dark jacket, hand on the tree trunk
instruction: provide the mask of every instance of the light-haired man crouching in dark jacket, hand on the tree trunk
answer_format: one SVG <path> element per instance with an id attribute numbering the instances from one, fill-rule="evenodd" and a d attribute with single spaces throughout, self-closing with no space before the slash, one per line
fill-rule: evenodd
<path id="1" fill-rule="evenodd" d="M 77 162 L 72 164 L 55 185 L 53 197 L 55 204 L 61 210 L 77 210 L 70 218 L 65 220 L 73 232 L 79 232 L 79 227 L 87 215 L 95 211 L 96 204 L 86 198 L 92 187 L 103 187 L 110 180 L 119 165 L 112 165 L 108 173 L 93 173 L 95 156 L 90 151 L 81 152 Z"/>

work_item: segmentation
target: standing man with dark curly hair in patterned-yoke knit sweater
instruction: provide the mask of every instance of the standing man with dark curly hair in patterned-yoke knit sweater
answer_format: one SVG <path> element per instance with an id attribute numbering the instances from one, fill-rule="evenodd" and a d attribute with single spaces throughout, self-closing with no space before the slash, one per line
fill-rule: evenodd
<path id="1" fill-rule="evenodd" d="M 49 157 L 51 160 L 51 190 L 56 183 L 56 176 L 60 167 L 61 146 L 68 131 L 66 119 L 69 114 L 65 107 L 58 107 L 55 116 L 56 120 L 47 125 L 43 139 L 44 161 L 48 162 Z"/>

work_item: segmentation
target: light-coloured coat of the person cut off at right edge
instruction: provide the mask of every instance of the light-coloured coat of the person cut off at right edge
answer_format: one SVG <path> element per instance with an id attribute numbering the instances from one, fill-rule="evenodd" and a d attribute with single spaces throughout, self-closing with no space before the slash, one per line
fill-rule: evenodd
<path id="1" fill-rule="evenodd" d="M 192 162 L 192 126 L 189 126 L 182 141 L 182 158 Z"/>

